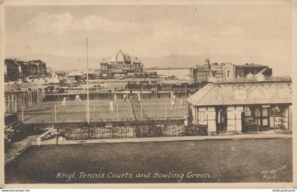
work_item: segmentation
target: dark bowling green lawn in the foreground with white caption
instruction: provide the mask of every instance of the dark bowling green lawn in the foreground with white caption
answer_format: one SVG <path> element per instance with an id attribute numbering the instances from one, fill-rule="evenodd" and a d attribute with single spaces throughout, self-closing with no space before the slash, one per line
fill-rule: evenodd
<path id="1" fill-rule="evenodd" d="M 263 179 L 263 171 L 279 169 Z M 103 178 L 79 178 L 105 174 Z M 107 174 L 121 178 L 107 178 Z M 151 174 L 149 174 L 151 172 Z M 195 140 L 164 143 L 100 143 L 31 146 L 5 167 L 6 183 L 150 183 L 177 182 L 153 178 L 155 173 L 184 174 L 181 182 L 292 181 L 291 138 Z M 187 178 L 187 173 L 209 178 Z M 74 179 L 57 178 L 73 174 Z M 136 174 L 148 178 L 136 178 Z M 110 174 L 110 175 L 112 175 Z M 122 178 L 132 174 L 132 178 Z M 274 176 L 274 177 L 272 177 Z"/>

